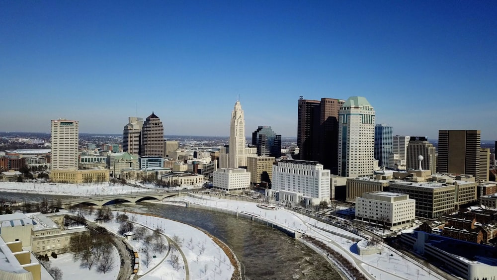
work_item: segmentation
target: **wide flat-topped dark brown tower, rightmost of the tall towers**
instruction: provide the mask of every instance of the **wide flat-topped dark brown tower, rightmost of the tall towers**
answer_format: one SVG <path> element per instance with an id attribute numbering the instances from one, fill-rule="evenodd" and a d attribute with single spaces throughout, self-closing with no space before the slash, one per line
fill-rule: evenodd
<path id="1" fill-rule="evenodd" d="M 440 173 L 478 177 L 480 130 L 438 130 L 437 164 L 437 171 Z"/>

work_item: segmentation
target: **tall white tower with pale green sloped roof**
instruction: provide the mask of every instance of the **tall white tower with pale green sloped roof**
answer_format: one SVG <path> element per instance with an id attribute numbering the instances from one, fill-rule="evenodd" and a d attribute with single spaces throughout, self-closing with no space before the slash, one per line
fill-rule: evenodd
<path id="1" fill-rule="evenodd" d="M 373 174 L 375 111 L 365 97 L 352 96 L 339 113 L 338 175 Z"/>

